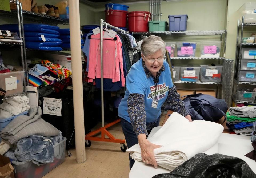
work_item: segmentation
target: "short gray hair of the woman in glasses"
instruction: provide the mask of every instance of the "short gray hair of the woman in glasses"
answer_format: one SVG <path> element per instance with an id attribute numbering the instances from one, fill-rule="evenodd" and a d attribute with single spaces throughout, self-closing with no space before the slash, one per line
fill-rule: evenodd
<path id="1" fill-rule="evenodd" d="M 155 52 L 161 50 L 163 54 L 165 53 L 166 43 L 161 37 L 150 35 L 148 38 L 144 38 L 141 43 L 141 53 L 144 56 L 153 55 Z"/>

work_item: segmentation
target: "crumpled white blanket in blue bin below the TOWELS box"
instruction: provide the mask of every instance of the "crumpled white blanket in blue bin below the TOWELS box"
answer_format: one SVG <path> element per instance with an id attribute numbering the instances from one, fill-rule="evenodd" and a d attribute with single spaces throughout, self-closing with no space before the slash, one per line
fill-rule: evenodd
<path id="1" fill-rule="evenodd" d="M 3 103 L 0 104 L 0 108 L 9 112 L 12 116 L 19 115 L 24 111 L 28 111 L 30 106 L 28 105 L 29 98 L 27 96 L 15 96 L 3 100 Z"/>

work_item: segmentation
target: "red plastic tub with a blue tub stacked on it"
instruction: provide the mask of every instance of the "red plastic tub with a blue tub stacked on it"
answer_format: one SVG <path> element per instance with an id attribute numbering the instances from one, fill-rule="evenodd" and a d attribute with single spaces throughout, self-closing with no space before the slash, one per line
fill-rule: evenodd
<path id="1" fill-rule="evenodd" d="M 105 10 L 105 21 L 116 27 L 126 27 L 128 11 L 124 10 Z"/>

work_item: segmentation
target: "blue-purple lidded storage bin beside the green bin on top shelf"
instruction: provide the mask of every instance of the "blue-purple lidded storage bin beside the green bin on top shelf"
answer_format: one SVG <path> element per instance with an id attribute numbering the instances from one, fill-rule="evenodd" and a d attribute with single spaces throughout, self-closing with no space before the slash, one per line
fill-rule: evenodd
<path id="1" fill-rule="evenodd" d="M 187 30 L 187 15 L 169 15 L 169 31 L 185 31 Z"/>

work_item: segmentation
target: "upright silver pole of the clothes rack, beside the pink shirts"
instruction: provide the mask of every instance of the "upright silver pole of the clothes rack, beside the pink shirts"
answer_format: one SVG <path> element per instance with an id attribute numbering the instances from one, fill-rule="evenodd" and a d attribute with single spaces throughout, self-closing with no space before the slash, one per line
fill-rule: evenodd
<path id="1" fill-rule="evenodd" d="M 101 19 L 100 28 L 101 28 L 101 120 L 102 127 L 104 127 L 104 93 L 103 93 L 103 23 L 104 21 Z"/>

